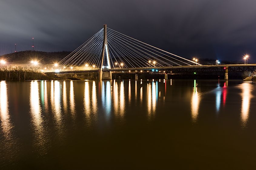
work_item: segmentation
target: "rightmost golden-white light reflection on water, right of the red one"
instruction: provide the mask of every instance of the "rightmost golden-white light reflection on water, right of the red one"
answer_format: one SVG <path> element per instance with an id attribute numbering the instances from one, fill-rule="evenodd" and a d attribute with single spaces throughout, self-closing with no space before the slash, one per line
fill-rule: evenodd
<path id="1" fill-rule="evenodd" d="M 241 106 L 241 121 L 243 123 L 243 126 L 246 126 L 246 123 L 248 121 L 249 111 L 250 111 L 250 102 L 251 102 L 251 90 L 252 90 L 252 84 L 251 83 L 243 83 L 240 85 L 242 89 L 242 106 Z"/>

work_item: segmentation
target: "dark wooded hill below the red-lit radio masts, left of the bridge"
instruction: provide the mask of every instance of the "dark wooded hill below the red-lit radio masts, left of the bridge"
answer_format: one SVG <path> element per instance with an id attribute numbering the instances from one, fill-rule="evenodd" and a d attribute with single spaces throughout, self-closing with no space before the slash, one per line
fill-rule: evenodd
<path id="1" fill-rule="evenodd" d="M 63 59 L 70 54 L 69 51 L 61 52 L 44 52 L 44 51 L 19 51 L 16 53 L 10 53 L 0 56 L 7 62 L 12 63 L 27 63 L 31 60 L 37 60 L 40 63 L 50 64 L 55 63 Z"/>

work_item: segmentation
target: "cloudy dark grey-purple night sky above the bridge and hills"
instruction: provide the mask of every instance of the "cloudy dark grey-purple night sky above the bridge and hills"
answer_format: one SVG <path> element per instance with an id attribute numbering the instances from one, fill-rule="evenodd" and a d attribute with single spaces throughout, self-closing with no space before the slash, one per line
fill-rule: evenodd
<path id="1" fill-rule="evenodd" d="M 155 47 L 256 63 L 255 0 L 0 0 L 0 55 L 72 51 L 107 24 Z"/>

